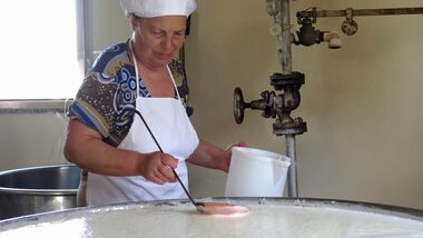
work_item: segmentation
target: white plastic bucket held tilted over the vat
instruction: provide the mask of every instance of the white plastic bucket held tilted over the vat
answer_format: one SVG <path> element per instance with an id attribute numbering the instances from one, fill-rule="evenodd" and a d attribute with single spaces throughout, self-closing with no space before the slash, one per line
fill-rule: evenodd
<path id="1" fill-rule="evenodd" d="M 232 152 L 226 197 L 283 197 L 288 157 L 247 147 Z"/>

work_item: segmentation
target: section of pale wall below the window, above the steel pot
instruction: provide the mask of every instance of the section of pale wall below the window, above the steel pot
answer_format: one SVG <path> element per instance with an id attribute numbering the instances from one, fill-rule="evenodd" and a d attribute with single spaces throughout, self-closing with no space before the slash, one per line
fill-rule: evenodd
<path id="1" fill-rule="evenodd" d="M 68 163 L 62 113 L 0 115 L 0 170 Z"/>

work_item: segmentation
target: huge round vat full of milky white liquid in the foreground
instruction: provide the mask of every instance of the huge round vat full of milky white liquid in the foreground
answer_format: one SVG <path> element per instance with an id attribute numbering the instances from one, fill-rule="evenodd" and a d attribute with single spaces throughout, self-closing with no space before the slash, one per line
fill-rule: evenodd
<path id="1" fill-rule="evenodd" d="M 354 201 L 207 198 L 249 207 L 242 216 L 210 216 L 169 200 L 76 208 L 0 222 L 0 238 L 420 238 L 423 211 Z"/>

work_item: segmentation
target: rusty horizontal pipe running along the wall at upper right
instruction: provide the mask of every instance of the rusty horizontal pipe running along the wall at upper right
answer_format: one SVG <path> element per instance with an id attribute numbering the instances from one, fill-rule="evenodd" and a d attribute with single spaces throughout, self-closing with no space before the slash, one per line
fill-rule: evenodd
<path id="1" fill-rule="evenodd" d="M 356 9 L 353 16 L 392 16 L 392 14 L 422 14 L 423 8 L 387 8 L 387 9 Z M 298 18 L 333 18 L 346 17 L 347 10 L 305 10 L 298 11 Z"/>

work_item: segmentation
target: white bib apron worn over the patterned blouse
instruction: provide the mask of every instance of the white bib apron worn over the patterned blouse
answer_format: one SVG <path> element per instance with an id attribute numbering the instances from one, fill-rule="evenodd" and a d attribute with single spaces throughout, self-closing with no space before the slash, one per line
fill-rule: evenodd
<path id="1" fill-rule="evenodd" d="M 138 76 L 135 58 L 134 62 L 136 76 Z M 174 81 L 175 90 L 178 92 L 169 68 L 168 71 Z M 197 148 L 199 140 L 180 101 L 179 93 L 179 100 L 175 98 L 142 98 L 139 96 L 139 80 L 136 81 L 138 83 L 136 108 L 141 112 L 164 152 L 179 160 L 175 171 L 185 187 L 188 188 L 185 160 Z M 118 148 L 141 153 L 159 151 L 142 120 L 136 113 L 134 113 L 134 121 L 128 135 Z M 181 198 L 187 198 L 187 196 L 179 182 L 158 185 L 141 176 L 115 177 L 92 172 L 88 176 L 87 202 L 89 206 Z"/>

